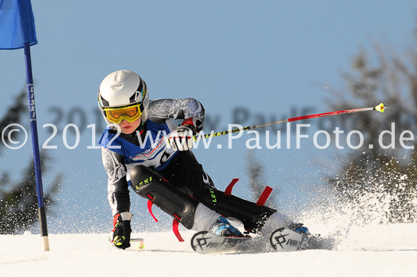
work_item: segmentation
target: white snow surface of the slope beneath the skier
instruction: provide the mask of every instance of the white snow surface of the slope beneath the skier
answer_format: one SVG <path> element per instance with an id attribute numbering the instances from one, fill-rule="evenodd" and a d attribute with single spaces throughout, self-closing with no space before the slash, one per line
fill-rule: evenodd
<path id="1" fill-rule="evenodd" d="M 417 224 L 356 226 L 333 250 L 200 255 L 191 231 L 133 233 L 144 250 L 122 251 L 108 234 L 0 235 L 0 276 L 416 276 Z"/>

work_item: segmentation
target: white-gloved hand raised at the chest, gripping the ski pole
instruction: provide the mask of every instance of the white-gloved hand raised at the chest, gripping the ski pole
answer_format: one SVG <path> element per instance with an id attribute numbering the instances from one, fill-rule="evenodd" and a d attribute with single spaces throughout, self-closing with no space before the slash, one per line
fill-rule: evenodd
<path id="1" fill-rule="evenodd" d="M 187 151 L 193 148 L 194 136 L 201 131 L 201 120 L 190 117 L 185 119 L 181 126 L 177 127 L 167 137 L 167 147 L 178 151 Z"/>

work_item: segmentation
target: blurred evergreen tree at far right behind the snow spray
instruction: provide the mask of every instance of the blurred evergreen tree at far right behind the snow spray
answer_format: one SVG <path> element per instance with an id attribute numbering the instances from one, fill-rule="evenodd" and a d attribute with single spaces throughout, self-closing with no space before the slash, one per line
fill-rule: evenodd
<path id="1" fill-rule="evenodd" d="M 391 108 L 382 115 L 360 112 L 339 117 L 346 133 L 358 130 L 363 134 L 364 144 L 349 154 L 337 176 L 328 178 L 328 183 L 342 199 L 365 210 L 373 207 L 361 201 L 363 194 L 387 201 L 389 222 L 413 222 L 417 220 L 417 153 L 411 133 L 417 131 L 417 49 L 410 49 L 406 60 L 379 45 L 375 45 L 373 53 L 362 49 L 354 56 L 352 72 L 343 73 L 347 90 L 334 92 L 329 106 L 342 110 L 383 102 Z M 400 135 L 406 130 L 409 133 L 404 137 L 412 140 L 404 144 L 413 149 L 400 144 Z M 382 131 L 390 131 L 382 137 L 382 144 L 393 147 L 380 147 Z"/>

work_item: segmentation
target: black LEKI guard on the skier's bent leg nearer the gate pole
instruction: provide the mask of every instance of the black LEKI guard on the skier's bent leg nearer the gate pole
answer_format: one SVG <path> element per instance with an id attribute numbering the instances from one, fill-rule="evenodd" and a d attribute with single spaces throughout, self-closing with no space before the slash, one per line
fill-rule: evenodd
<path id="1" fill-rule="evenodd" d="M 158 172 L 137 165 L 131 171 L 133 191 L 149 199 L 164 212 L 179 219 L 186 228 L 193 227 L 195 209 L 199 201 L 175 189 Z"/>

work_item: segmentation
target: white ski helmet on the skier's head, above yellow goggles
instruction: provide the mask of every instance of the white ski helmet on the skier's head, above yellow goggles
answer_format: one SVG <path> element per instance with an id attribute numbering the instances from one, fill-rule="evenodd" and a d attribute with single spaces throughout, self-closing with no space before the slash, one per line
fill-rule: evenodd
<path id="1" fill-rule="evenodd" d="M 107 124 L 112 124 L 106 118 L 104 108 L 120 108 L 140 104 L 142 122 L 147 120 L 149 108 L 149 93 L 145 81 L 130 70 L 118 70 L 108 74 L 99 87 L 99 108 L 103 112 Z"/>

